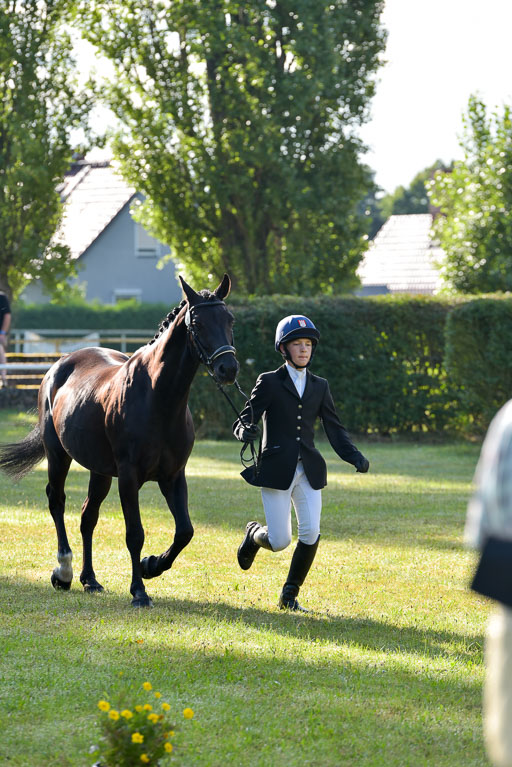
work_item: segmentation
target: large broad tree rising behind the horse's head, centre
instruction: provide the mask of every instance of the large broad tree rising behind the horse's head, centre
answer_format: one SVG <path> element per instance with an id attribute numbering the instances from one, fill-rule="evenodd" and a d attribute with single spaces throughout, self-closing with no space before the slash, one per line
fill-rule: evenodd
<path id="1" fill-rule="evenodd" d="M 140 220 L 191 279 L 248 293 L 339 288 L 365 247 L 357 203 L 382 0 L 85 0 L 114 64 L 114 148 Z"/>

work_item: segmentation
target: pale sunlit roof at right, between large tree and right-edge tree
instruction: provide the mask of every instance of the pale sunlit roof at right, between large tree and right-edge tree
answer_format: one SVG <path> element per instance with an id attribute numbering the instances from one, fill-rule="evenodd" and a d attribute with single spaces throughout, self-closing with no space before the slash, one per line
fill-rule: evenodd
<path id="1" fill-rule="evenodd" d="M 358 293 L 436 293 L 442 281 L 435 264 L 444 253 L 433 243 L 431 228 L 430 213 L 391 216 L 359 265 Z"/>

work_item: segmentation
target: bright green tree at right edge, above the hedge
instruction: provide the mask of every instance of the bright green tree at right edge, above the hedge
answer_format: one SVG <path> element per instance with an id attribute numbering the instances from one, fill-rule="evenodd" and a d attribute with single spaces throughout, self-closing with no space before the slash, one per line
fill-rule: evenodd
<path id="1" fill-rule="evenodd" d="M 512 115 L 487 115 L 469 100 L 460 141 L 464 158 L 430 184 L 441 215 L 435 232 L 446 253 L 444 278 L 463 293 L 512 289 Z"/>

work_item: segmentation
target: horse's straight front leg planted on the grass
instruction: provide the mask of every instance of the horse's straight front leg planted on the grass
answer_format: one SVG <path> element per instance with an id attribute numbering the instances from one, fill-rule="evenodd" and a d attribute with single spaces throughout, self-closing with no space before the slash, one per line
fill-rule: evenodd
<path id="1" fill-rule="evenodd" d="M 140 521 L 139 484 L 136 472 L 129 466 L 119 471 L 119 497 L 126 525 L 126 545 L 132 560 L 132 583 L 130 593 L 133 607 L 151 607 L 153 602 L 146 594 L 142 581 L 140 552 L 144 545 L 144 528 Z"/>

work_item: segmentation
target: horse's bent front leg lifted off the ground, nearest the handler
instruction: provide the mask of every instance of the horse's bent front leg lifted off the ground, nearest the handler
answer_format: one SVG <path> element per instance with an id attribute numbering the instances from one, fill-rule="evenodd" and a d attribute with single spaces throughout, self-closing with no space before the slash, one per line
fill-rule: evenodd
<path id="1" fill-rule="evenodd" d="M 188 513 L 188 492 L 185 471 L 182 470 L 172 480 L 158 481 L 158 486 L 167 501 L 176 523 L 174 540 L 170 548 L 160 556 L 144 557 L 141 564 L 142 577 L 154 578 L 168 570 L 180 551 L 190 543 L 194 535 L 194 528 Z"/>

